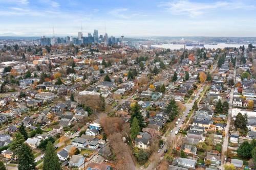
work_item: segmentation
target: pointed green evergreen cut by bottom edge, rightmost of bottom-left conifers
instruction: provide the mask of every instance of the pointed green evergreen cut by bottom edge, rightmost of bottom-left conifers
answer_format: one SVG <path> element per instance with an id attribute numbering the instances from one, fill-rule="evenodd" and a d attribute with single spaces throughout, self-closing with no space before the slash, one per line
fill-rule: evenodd
<path id="1" fill-rule="evenodd" d="M 54 150 L 52 142 L 48 141 L 44 159 L 44 170 L 60 170 L 61 164 Z"/>

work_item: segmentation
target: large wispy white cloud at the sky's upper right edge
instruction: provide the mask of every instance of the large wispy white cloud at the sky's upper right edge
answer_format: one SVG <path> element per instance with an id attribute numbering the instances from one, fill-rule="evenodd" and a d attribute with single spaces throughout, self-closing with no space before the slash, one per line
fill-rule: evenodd
<path id="1" fill-rule="evenodd" d="M 188 15 L 190 17 L 199 16 L 213 10 L 255 9 L 253 5 L 249 6 L 239 2 L 197 3 L 188 0 L 161 3 L 159 7 L 167 9 L 168 12 L 174 15 Z"/>

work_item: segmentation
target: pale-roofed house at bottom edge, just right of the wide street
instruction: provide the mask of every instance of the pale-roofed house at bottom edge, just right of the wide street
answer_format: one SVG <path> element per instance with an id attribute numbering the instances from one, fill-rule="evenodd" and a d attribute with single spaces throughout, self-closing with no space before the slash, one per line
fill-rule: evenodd
<path id="1" fill-rule="evenodd" d="M 182 167 L 186 169 L 195 169 L 196 168 L 196 160 L 187 159 L 187 158 L 176 158 L 173 161 L 173 166 L 175 167 Z"/>

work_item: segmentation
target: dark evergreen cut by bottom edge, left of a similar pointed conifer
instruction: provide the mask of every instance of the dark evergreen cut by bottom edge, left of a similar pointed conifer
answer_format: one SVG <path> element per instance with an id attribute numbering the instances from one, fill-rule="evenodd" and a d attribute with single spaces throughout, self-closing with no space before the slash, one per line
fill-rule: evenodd
<path id="1" fill-rule="evenodd" d="M 31 148 L 23 143 L 18 152 L 18 170 L 34 170 L 35 158 Z"/>

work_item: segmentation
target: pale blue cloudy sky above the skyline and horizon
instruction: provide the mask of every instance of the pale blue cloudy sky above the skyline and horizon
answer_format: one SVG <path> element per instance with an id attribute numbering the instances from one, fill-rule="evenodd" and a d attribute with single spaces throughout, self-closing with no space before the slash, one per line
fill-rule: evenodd
<path id="1" fill-rule="evenodd" d="M 0 35 L 256 37 L 254 0 L 0 0 Z"/>

